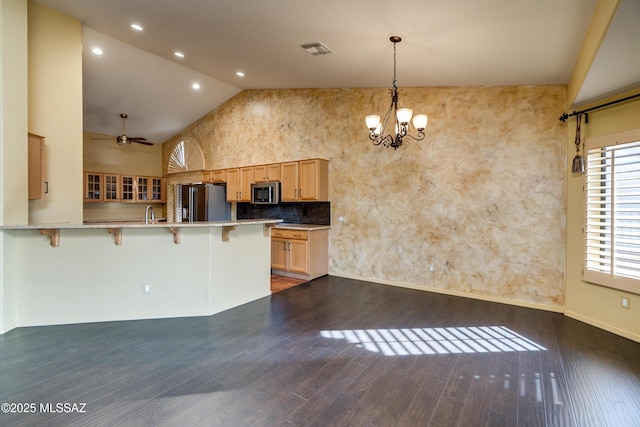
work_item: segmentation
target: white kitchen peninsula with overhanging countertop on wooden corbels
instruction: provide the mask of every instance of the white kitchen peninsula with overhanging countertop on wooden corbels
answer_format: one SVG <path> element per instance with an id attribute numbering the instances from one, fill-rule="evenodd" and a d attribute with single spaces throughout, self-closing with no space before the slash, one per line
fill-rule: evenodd
<path id="1" fill-rule="evenodd" d="M 4 226 L 17 326 L 207 316 L 268 296 L 279 222 Z"/>

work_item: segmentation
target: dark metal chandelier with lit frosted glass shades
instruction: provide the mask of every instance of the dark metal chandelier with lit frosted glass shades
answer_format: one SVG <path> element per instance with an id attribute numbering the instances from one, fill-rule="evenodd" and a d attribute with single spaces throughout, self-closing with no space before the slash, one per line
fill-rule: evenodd
<path id="1" fill-rule="evenodd" d="M 413 116 L 413 110 L 411 108 L 399 108 L 398 107 L 398 81 L 396 80 L 396 44 L 400 43 L 402 39 L 398 36 L 391 36 L 389 40 L 393 43 L 393 88 L 389 89 L 391 93 L 391 105 L 385 114 L 384 119 L 380 121 L 380 116 L 371 114 L 365 117 L 367 128 L 369 129 L 369 139 L 373 141 L 373 145 L 383 145 L 384 147 L 393 147 L 397 150 L 402 145 L 403 138 L 411 138 L 415 141 L 422 141 L 424 139 L 424 129 L 427 127 L 427 115 L 417 114 L 413 117 L 413 127 L 417 130 L 417 135 L 411 135 L 411 116 Z M 391 113 L 395 118 L 395 134 L 387 133 L 385 130 Z"/>

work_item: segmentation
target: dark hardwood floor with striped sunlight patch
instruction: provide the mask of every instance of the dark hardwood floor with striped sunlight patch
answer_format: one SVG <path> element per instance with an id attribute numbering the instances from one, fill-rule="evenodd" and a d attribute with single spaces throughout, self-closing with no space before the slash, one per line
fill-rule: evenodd
<path id="1" fill-rule="evenodd" d="M 10 331 L 0 402 L 34 410 L 2 426 L 640 426 L 640 344 L 325 276 L 211 317 Z"/>

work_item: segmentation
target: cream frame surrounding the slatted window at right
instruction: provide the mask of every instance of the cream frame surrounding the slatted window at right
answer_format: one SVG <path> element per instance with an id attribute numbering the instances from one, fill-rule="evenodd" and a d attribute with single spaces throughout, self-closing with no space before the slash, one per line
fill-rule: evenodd
<path id="1" fill-rule="evenodd" d="M 612 273 L 614 269 L 613 265 L 615 264 L 614 242 L 615 242 L 615 236 L 616 234 L 618 234 L 615 231 L 615 222 L 614 222 L 615 215 L 612 216 L 612 218 L 614 218 L 614 221 L 612 221 L 611 232 L 610 232 L 612 235 L 611 243 L 610 243 L 611 245 L 611 249 L 610 249 L 611 261 L 610 262 L 612 265 L 611 272 L 603 273 L 603 272 L 588 268 L 588 252 L 587 252 L 588 237 L 589 237 L 588 223 L 587 223 L 588 215 L 589 215 L 589 212 L 588 212 L 589 200 L 587 197 L 589 194 L 589 191 L 588 191 L 589 189 L 587 188 L 588 174 L 589 174 L 589 167 L 590 167 L 590 163 L 588 161 L 589 151 L 594 149 L 601 149 L 605 147 L 613 147 L 613 151 L 615 151 L 616 146 L 623 145 L 623 144 L 626 145 L 634 142 L 640 142 L 640 128 L 629 129 L 629 130 L 606 134 L 606 135 L 587 137 L 585 139 L 585 145 L 584 145 L 585 173 L 583 174 L 583 178 L 582 178 L 582 184 L 583 184 L 582 185 L 582 195 L 583 195 L 582 197 L 582 212 L 583 212 L 583 215 L 582 215 L 582 222 L 583 222 L 582 223 L 582 260 L 583 260 L 582 279 L 588 283 L 606 286 L 609 288 L 613 288 L 613 289 L 617 289 L 625 292 L 640 294 L 640 276 L 638 278 L 633 278 L 633 277 L 615 275 Z M 638 171 L 640 172 L 640 161 L 638 162 Z M 613 187 L 613 184 L 611 186 Z M 613 197 L 615 197 L 615 193 L 612 195 L 612 198 Z M 612 200 L 611 203 L 612 203 L 611 209 L 613 210 L 615 206 L 614 201 Z M 638 228 L 640 229 L 640 225 L 638 226 Z M 638 267 L 640 268 L 640 262 Z"/>

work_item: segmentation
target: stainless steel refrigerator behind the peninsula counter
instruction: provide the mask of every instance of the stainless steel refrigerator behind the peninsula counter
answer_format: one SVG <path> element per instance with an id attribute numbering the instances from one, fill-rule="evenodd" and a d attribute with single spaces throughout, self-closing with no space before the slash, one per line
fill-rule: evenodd
<path id="1" fill-rule="evenodd" d="M 213 184 L 181 185 L 182 222 L 228 221 L 231 204 L 227 202 L 226 188 Z"/>

